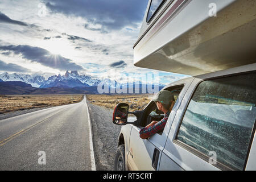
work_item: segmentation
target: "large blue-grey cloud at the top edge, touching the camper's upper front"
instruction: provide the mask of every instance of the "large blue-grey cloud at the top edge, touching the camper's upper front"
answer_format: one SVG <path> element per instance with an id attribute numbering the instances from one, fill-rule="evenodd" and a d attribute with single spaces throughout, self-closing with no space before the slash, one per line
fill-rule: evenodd
<path id="1" fill-rule="evenodd" d="M 107 30 L 119 30 L 125 26 L 137 27 L 141 23 L 147 6 L 147 0 L 43 0 L 52 13 L 76 15 L 101 24 Z M 85 28 L 89 28 L 85 24 Z M 98 28 L 94 29 L 98 31 Z"/>

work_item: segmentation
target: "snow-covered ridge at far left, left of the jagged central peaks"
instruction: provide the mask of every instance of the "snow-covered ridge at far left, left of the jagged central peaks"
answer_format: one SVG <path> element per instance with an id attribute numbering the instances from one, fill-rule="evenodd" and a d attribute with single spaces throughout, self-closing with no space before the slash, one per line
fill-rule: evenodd
<path id="1" fill-rule="evenodd" d="M 31 84 L 33 87 L 37 88 L 46 81 L 46 78 L 44 78 L 44 76 L 31 76 L 24 75 L 22 73 L 9 74 L 7 72 L 0 74 L 0 79 L 3 81 L 22 81 L 26 84 Z"/>

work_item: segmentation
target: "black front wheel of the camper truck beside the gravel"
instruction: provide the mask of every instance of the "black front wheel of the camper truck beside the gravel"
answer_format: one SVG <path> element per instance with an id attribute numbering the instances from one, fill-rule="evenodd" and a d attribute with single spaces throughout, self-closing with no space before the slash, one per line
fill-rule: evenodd
<path id="1" fill-rule="evenodd" d="M 119 145 L 115 152 L 114 170 L 125 171 L 125 144 Z"/>

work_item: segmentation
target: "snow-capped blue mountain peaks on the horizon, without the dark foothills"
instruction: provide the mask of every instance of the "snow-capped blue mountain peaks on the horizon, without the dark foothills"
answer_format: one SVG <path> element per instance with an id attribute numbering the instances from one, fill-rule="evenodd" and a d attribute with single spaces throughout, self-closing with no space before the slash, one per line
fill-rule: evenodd
<path id="1" fill-rule="evenodd" d="M 32 87 L 36 88 L 52 88 L 52 87 L 59 87 L 59 88 L 81 88 L 85 90 L 97 90 L 97 88 L 105 88 L 106 86 L 109 89 L 121 89 L 121 88 L 129 88 L 129 86 L 133 86 L 133 88 L 142 88 L 146 90 L 148 84 L 142 84 L 141 81 L 131 82 L 131 83 L 121 83 L 110 78 L 105 79 L 98 79 L 92 78 L 88 75 L 79 75 L 77 71 L 67 71 L 65 75 L 53 75 L 49 77 L 47 80 L 43 76 L 30 76 L 24 74 L 9 74 L 9 73 L 2 73 L 0 74 L 0 79 L 2 81 L 22 81 L 26 84 L 31 84 Z M 0 81 L 1 81 L 0 80 Z M 100 87 L 98 87 L 100 86 Z M 164 85 L 156 85 L 159 86 L 159 89 L 162 89 Z M 151 88 L 151 87 L 149 87 Z M 144 91 L 143 91 L 144 92 Z"/>

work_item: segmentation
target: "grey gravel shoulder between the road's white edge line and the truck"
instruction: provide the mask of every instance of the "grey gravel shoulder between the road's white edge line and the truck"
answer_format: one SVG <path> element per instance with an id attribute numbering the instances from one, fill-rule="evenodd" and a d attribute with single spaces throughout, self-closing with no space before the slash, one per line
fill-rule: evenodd
<path id="1" fill-rule="evenodd" d="M 112 109 L 90 104 L 94 158 L 97 171 L 114 170 L 114 154 L 117 150 L 118 135 L 121 127 L 112 123 Z"/>

